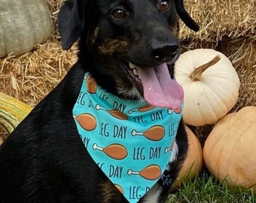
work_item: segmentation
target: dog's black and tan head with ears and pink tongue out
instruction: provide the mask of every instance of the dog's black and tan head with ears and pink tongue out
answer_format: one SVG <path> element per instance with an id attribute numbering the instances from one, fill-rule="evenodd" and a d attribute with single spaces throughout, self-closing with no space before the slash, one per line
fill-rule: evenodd
<path id="1" fill-rule="evenodd" d="M 59 11 L 62 48 L 80 38 L 79 60 L 109 92 L 178 108 L 183 91 L 169 76 L 179 56 L 177 14 L 199 29 L 183 0 L 68 0 Z"/>

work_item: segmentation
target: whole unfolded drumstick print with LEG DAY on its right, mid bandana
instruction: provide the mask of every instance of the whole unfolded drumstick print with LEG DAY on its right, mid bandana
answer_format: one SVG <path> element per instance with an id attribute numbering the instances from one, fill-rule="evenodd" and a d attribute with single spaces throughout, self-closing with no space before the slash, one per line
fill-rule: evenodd
<path id="1" fill-rule="evenodd" d="M 126 148 L 120 144 L 110 144 L 105 148 L 99 147 L 97 144 L 93 144 L 93 150 L 102 151 L 113 159 L 124 159 L 127 156 Z"/>

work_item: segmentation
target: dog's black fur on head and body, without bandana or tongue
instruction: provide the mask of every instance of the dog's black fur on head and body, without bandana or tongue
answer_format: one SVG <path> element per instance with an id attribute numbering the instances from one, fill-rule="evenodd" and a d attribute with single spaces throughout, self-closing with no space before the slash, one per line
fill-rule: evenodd
<path id="1" fill-rule="evenodd" d="M 164 58 L 172 67 L 179 47 L 175 6 L 185 23 L 193 29 L 197 24 L 181 0 L 167 2 L 168 11 L 160 11 L 158 0 L 64 3 L 59 12 L 62 47 L 69 49 L 80 38 L 79 59 L 0 147 L 0 202 L 126 202 L 87 154 L 72 108 L 86 71 L 108 92 L 136 100 L 143 92 L 126 76 L 127 62 L 148 68 Z M 111 16 L 117 8 L 126 12 L 126 18 Z M 134 86 L 137 92 L 130 93 Z M 182 122 L 176 141 L 179 156 L 171 163 L 173 178 L 187 152 Z M 168 194 L 169 187 L 163 189 L 158 202 L 164 202 Z"/>

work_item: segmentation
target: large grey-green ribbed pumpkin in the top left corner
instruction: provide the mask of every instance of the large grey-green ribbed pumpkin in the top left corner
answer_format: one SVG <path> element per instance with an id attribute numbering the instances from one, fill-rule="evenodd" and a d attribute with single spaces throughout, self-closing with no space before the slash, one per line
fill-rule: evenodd
<path id="1" fill-rule="evenodd" d="M 44 0 L 0 0 L 0 58 L 29 52 L 52 32 Z"/>

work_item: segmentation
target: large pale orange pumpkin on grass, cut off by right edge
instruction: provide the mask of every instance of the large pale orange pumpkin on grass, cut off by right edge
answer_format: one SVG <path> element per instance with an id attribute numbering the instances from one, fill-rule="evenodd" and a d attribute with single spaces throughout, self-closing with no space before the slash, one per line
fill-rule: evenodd
<path id="1" fill-rule="evenodd" d="M 256 193 L 256 107 L 218 121 L 206 139 L 203 158 L 210 173 L 229 186 Z"/>

